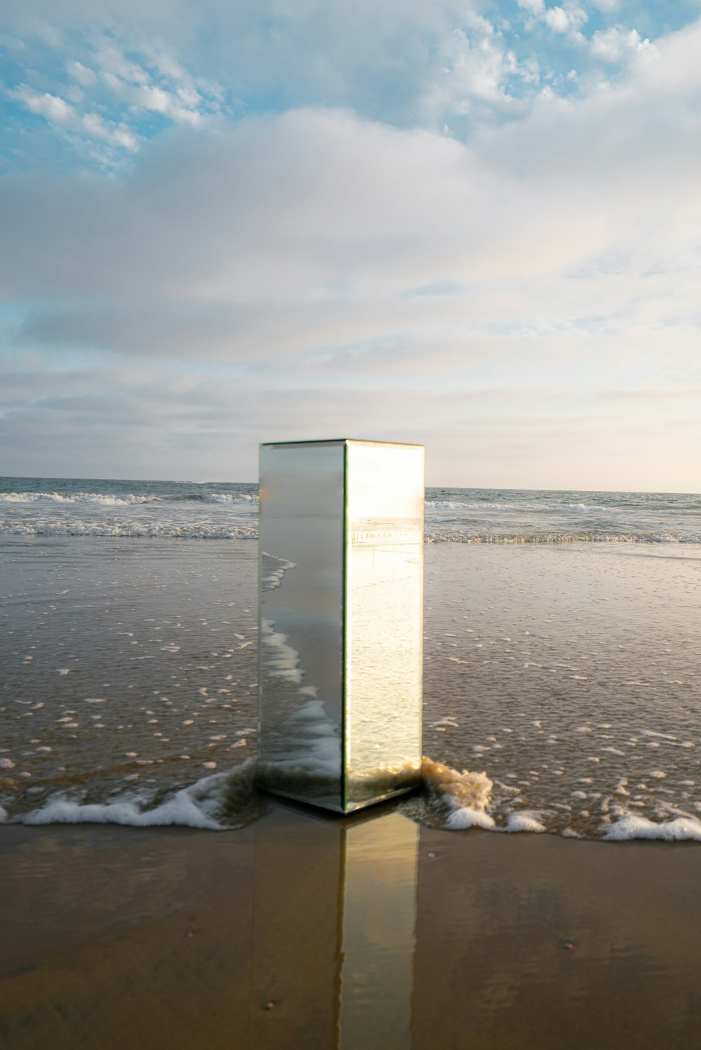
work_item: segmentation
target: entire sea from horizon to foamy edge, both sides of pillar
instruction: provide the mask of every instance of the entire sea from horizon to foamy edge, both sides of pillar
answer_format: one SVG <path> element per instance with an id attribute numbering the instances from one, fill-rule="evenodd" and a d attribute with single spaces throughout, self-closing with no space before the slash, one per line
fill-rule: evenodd
<path id="1" fill-rule="evenodd" d="M 701 841 L 701 496 L 429 488 L 433 826 Z M 238 826 L 253 483 L 0 479 L 0 818 Z"/>

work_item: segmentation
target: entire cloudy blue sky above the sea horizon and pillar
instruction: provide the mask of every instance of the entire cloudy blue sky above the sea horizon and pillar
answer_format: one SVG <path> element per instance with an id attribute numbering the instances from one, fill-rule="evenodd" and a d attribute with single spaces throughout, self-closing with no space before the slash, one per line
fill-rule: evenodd
<path id="1" fill-rule="evenodd" d="M 0 474 L 701 490 L 701 0 L 5 0 Z"/>

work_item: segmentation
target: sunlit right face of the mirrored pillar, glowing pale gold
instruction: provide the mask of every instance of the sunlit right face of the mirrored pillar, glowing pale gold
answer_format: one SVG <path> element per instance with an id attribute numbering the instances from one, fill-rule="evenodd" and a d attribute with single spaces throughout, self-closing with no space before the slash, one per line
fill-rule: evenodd
<path id="1" fill-rule="evenodd" d="M 346 808 L 420 780 L 424 448 L 348 442 Z"/>

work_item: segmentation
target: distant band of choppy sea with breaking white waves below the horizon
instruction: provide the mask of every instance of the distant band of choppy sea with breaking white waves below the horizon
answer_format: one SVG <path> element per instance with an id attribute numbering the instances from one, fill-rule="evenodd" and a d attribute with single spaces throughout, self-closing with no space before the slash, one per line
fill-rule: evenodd
<path id="1" fill-rule="evenodd" d="M 0 478 L 0 536 L 255 539 L 253 482 Z M 701 544 L 701 496 L 428 488 L 429 543 Z"/>

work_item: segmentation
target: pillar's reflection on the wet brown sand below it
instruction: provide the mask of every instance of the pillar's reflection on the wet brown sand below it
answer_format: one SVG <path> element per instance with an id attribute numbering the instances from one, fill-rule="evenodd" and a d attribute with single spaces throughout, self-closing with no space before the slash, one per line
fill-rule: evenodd
<path id="1" fill-rule="evenodd" d="M 284 819 L 255 826 L 251 1046 L 411 1047 L 418 825 Z"/>

